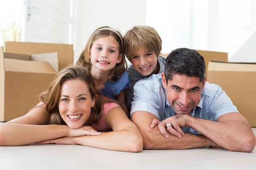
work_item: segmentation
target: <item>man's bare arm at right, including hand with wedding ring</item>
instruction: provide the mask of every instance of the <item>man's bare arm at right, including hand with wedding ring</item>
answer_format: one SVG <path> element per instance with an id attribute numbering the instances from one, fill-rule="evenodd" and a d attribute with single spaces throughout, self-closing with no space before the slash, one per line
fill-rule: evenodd
<path id="1" fill-rule="evenodd" d="M 252 128 L 240 113 L 227 113 L 216 121 L 195 118 L 190 115 L 168 117 L 158 125 L 164 136 L 167 135 L 164 126 L 169 123 L 173 125 L 173 128 L 167 128 L 167 130 L 173 135 L 175 135 L 175 130 L 188 126 L 215 141 L 219 146 L 232 151 L 252 152 L 256 144 Z"/>

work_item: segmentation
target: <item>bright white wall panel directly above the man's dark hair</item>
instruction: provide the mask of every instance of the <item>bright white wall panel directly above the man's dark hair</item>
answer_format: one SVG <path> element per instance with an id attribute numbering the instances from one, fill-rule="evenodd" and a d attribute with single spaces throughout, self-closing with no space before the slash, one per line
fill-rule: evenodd
<path id="1" fill-rule="evenodd" d="M 146 0 L 146 25 L 162 39 L 162 52 L 190 47 L 191 0 Z"/>

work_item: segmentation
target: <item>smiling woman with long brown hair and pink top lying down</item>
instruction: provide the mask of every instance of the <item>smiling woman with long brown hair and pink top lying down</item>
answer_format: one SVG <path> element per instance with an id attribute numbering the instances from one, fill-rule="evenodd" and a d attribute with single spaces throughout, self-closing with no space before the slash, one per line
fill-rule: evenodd
<path id="1" fill-rule="evenodd" d="M 1 146 L 38 142 L 127 152 L 143 148 L 137 126 L 115 100 L 97 95 L 92 75 L 82 66 L 60 71 L 40 98 L 29 113 L 0 126 Z"/>

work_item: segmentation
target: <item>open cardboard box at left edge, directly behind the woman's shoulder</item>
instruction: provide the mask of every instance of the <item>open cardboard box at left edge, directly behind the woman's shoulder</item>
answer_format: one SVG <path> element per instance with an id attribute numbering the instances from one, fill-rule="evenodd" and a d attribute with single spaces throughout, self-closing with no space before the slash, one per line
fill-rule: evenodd
<path id="1" fill-rule="evenodd" d="M 51 63 L 51 64 L 49 64 Z M 4 53 L 0 47 L 0 121 L 25 115 L 58 73 L 58 53 Z"/>

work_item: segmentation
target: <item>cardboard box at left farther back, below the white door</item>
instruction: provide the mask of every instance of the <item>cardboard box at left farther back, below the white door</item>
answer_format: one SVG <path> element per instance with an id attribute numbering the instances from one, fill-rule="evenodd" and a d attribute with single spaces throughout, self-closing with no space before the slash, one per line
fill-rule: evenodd
<path id="1" fill-rule="evenodd" d="M 71 44 L 53 44 L 36 42 L 5 43 L 5 52 L 18 54 L 58 53 L 58 70 L 74 63 L 74 50 Z"/>

